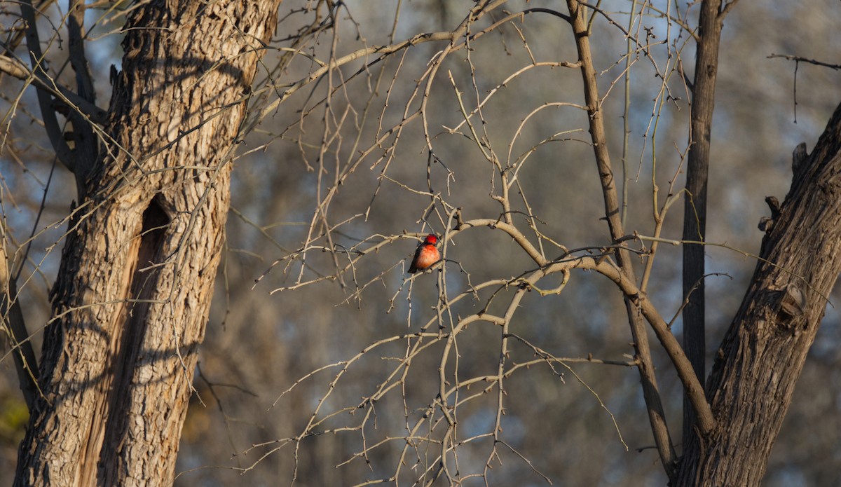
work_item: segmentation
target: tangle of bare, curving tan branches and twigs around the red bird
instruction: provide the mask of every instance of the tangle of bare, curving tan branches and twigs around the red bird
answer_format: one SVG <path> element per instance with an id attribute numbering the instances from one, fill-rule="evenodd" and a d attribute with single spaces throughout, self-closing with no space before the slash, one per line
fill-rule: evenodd
<path id="1" fill-rule="evenodd" d="M 409 305 L 400 310 L 406 312 L 410 331 L 373 340 L 361 352 L 318 368 L 299 378 L 284 390 L 280 396 L 291 393 L 299 384 L 313 380 L 319 373 L 326 373 L 331 369 L 338 370 L 326 385 L 325 394 L 322 395 L 312 410 L 309 421 L 299 430 L 299 433 L 293 437 L 254 445 L 251 449 L 262 449 L 263 453 L 251 466 L 243 468 L 244 471 L 254 468 L 263 458 L 284 447 L 294 449 L 297 465 L 299 447 L 307 438 L 326 433 L 356 431 L 361 436 L 361 446 L 357 453 L 347 458 L 340 466 L 359 460 L 370 463 L 373 451 L 388 445 L 402 445 L 399 447 L 400 453 L 390 474 L 361 484 L 395 482 L 405 478 L 412 479 L 415 484 L 431 484 L 442 476 L 455 484 L 473 477 L 487 481 L 489 469 L 501 462 L 500 448 L 513 452 L 516 458 L 521 458 L 535 473 L 546 478 L 545 475 L 540 474 L 529 458 L 517 452 L 515 447 L 506 442 L 502 429 L 502 418 L 508 405 L 505 384 L 510 380 L 515 380 L 528 368 L 538 365 L 549 368 L 562 381 L 563 373 L 568 372 L 584 384 L 583 379 L 570 366 L 572 363 L 582 362 L 636 367 L 639 370 L 643 377 L 643 384 L 648 384 L 648 389 L 644 392 L 661 458 L 664 459 L 664 464 L 674 465 L 674 447 L 663 417 L 663 406 L 656 385 L 651 352 L 648 349 L 646 338 L 648 327 L 655 332 L 688 391 L 700 419 L 700 427 L 711 427 L 711 412 L 701 386 L 692 372 L 683 349 L 670 331 L 674 318 L 668 322 L 664 320 L 646 295 L 658 244 L 669 241 L 661 236 L 666 214 L 682 196 L 682 193 L 674 188 L 677 172 L 680 172 L 681 166 L 679 164 L 675 168 L 675 173 L 669 180 L 668 194 L 663 198 L 659 194 L 656 181 L 657 167 L 654 163 L 656 158 L 652 157 L 653 227 L 651 236 L 643 236 L 637 231 L 627 234 L 623 226 L 628 207 L 626 183 L 632 175 L 632 170 L 627 167 L 627 161 L 632 158 L 627 152 L 629 131 L 626 130 L 626 152 L 621 155 L 622 169 L 618 171 L 611 165 L 603 122 L 603 104 L 606 103 L 606 98 L 611 94 L 612 89 L 621 84 L 624 84 L 626 91 L 624 105 L 627 121 L 632 66 L 644 59 L 648 61 L 660 82 L 659 93 L 655 98 L 644 138 L 644 140 L 654 140 L 653 135 L 656 134 L 664 107 L 669 103 L 679 103 L 682 99 L 674 93 L 673 84 L 676 82 L 685 87 L 680 52 L 694 35 L 686 29 L 687 12 L 674 13 L 671 7 L 666 11 L 658 11 L 648 3 L 640 5 L 633 3 L 630 13 L 607 13 L 597 6 L 575 1 L 569 2 L 568 7 L 569 11 L 564 13 L 547 8 L 526 8 L 510 12 L 505 10 L 506 2 L 480 2 L 463 17 L 455 29 L 415 34 L 405 40 L 396 39 L 398 17 L 395 16 L 395 28 L 389 33 L 389 44 L 367 45 L 347 53 L 339 48 L 341 29 L 333 29 L 329 56 L 323 61 L 312 54 L 305 54 L 300 48 L 284 53 L 305 56 L 311 61 L 312 70 L 306 77 L 300 78 L 297 82 L 288 83 L 272 82 L 274 77 L 267 77 L 262 93 L 267 93 L 271 89 L 278 92 L 278 98 L 257 106 L 256 121 L 274 113 L 278 107 L 282 106 L 281 103 L 301 88 L 308 87 L 314 80 L 326 83 L 326 86 L 322 86 L 322 89 L 313 91 L 309 95 L 310 99 L 323 98 L 311 103 L 311 108 L 308 105 L 307 109 L 302 110 L 300 119 L 296 122 L 299 127 L 304 127 L 305 120 L 320 117 L 318 126 L 321 134 L 318 140 L 312 143 L 315 150 L 308 150 L 303 137 L 299 138 L 298 142 L 307 167 L 315 172 L 317 178 L 315 183 L 317 204 L 309 219 L 306 236 L 299 248 L 289 251 L 273 262 L 266 273 L 257 279 L 256 286 L 267 273 L 282 272 L 291 280 L 273 288 L 272 293 L 291 292 L 304 286 L 333 281 L 339 283 L 342 288 L 346 288 L 344 303 L 361 303 L 363 294 L 370 286 L 392 282 L 389 281 L 390 276 L 405 273 L 405 261 L 394 262 L 391 266 L 374 273 L 366 272 L 364 268 L 368 257 L 395 244 L 402 244 L 405 247 L 403 242 L 406 239 L 422 238 L 432 229 L 442 229 L 443 244 L 442 261 L 433 267 L 431 272 L 404 279 L 403 284 L 395 288 L 390 299 L 389 312 L 395 309 L 395 301 L 408 287 Z M 342 16 L 339 12 L 343 11 L 344 6 L 337 6 L 336 11 L 331 12 L 336 23 Z M 526 17 L 541 15 L 551 16 L 555 22 L 553 27 L 569 29 L 570 36 L 574 35 L 578 40 L 577 59 L 543 61 L 534 55 L 527 41 L 527 31 L 523 26 L 526 25 Z M 627 18 L 627 29 L 621 27 L 617 20 L 622 16 Z M 652 30 L 645 26 L 642 19 L 646 16 L 666 19 L 664 26 L 668 34 L 665 40 L 658 40 Z M 612 79 L 606 90 L 600 91 L 597 86 L 599 75 L 595 69 L 588 39 L 595 35 L 594 24 L 605 19 L 610 29 L 616 29 L 625 36 L 627 52 L 614 63 L 613 68 L 620 66 L 618 76 Z M 353 24 L 358 28 L 355 21 Z M 338 25 L 336 24 L 335 27 Z M 672 29 L 678 32 L 672 33 Z M 473 52 L 479 49 L 476 45 L 480 38 L 493 33 L 510 35 L 519 40 L 528 59 L 523 66 L 507 74 L 494 87 L 483 90 L 480 86 L 486 85 L 487 82 L 481 79 L 482 72 L 473 62 Z M 407 59 L 410 57 L 410 51 L 426 43 L 434 44 L 434 52 L 426 60 L 425 69 L 413 79 L 414 87 L 410 90 L 410 94 L 405 99 L 393 101 L 391 98 L 395 97 L 394 93 L 398 92 L 395 87 L 398 87 L 399 82 L 403 80 L 402 71 L 409 62 Z M 666 50 L 666 56 L 653 52 L 655 48 Z M 468 66 L 466 80 L 459 81 L 452 69 L 447 69 L 453 60 L 466 63 Z M 347 66 L 355 67 L 348 70 Z M 494 103 L 497 95 L 504 93 L 505 88 L 520 77 L 535 70 L 556 69 L 569 70 L 567 71 L 569 76 L 574 76 L 575 70 L 583 73 L 584 102 L 547 102 L 534 109 L 526 109 L 526 115 L 511 130 L 510 140 L 500 147 L 495 136 L 489 133 L 489 127 L 497 121 L 489 119 L 485 115 L 485 110 Z M 616 70 L 611 68 L 605 73 L 613 71 Z M 386 81 L 389 77 L 390 81 Z M 357 78 L 363 78 L 368 82 L 370 97 L 358 104 L 350 103 L 345 98 L 339 99 L 338 94 L 345 93 L 349 84 Z M 437 96 L 441 96 L 442 91 L 452 93 L 454 106 L 460 115 L 458 123 L 452 126 L 439 124 L 436 121 L 437 118 L 432 116 L 434 107 L 438 106 L 432 101 L 436 93 L 438 93 Z M 257 93 L 261 93 L 261 90 L 258 89 Z M 384 120 L 393 117 L 391 109 L 394 103 L 404 108 L 399 110 L 395 123 L 384 124 Z M 525 151 L 519 149 L 518 142 L 529 130 L 531 120 L 550 109 L 578 110 L 586 114 L 589 124 L 572 130 L 558 130 L 537 143 L 530 144 Z M 364 130 L 366 122 L 377 113 L 376 129 L 373 134 L 369 134 L 367 130 Z M 349 124 L 352 124 L 350 130 L 348 130 Z M 401 141 L 409 137 L 405 133 L 413 124 L 421 124 L 428 156 L 426 187 L 421 188 L 406 181 L 395 168 L 398 147 Z M 290 131 L 291 129 L 283 130 L 277 137 L 288 135 Z M 589 132 L 591 136 L 587 137 L 586 132 Z M 347 139 L 347 134 L 352 134 L 350 140 Z M 489 168 L 489 200 L 495 202 L 497 208 L 495 214 L 472 220 L 465 219 L 463 216 L 463 209 L 456 194 L 458 191 L 451 188 L 452 183 L 456 181 L 458 168 L 439 156 L 442 151 L 438 149 L 438 146 L 448 136 L 468 140 L 468 143 L 473 146 L 473 154 L 486 162 L 486 167 Z M 521 178 L 526 162 L 536 159 L 535 155 L 540 151 L 545 151 L 547 147 L 556 143 L 570 142 L 583 143 L 590 146 L 593 151 L 606 202 L 605 218 L 611 230 L 610 236 L 603 243 L 579 249 L 568 249 L 558 237 L 548 235 L 542 230 L 544 222 L 532 208 L 530 199 L 526 196 L 529 188 Z M 405 141 L 403 143 L 408 144 Z M 652 147 L 650 151 L 655 153 L 655 148 Z M 646 150 L 643 147 L 640 168 L 643 167 L 645 153 Z M 683 161 L 684 157 L 685 151 L 679 151 L 680 161 Z M 337 195 L 343 188 L 352 187 L 352 176 L 357 174 L 357 170 L 365 167 L 369 171 L 377 171 L 377 184 L 368 206 L 352 211 L 349 216 L 341 217 L 338 221 L 334 220 L 331 218 L 333 214 L 331 209 Z M 621 188 L 617 186 L 620 182 Z M 441 184 L 443 188 L 439 188 Z M 342 236 L 351 233 L 346 229 L 353 228 L 353 225 L 368 219 L 383 185 L 394 185 L 407 194 L 428 199 L 429 203 L 421 210 L 421 217 L 417 220 L 422 224 L 421 231 L 373 234 L 358 239 L 352 245 L 341 243 L 346 240 Z M 530 259 L 532 266 L 523 268 L 521 273 L 513 277 L 490 278 L 482 282 L 473 282 L 473 269 L 466 268 L 457 260 L 452 259 L 450 249 L 453 243 L 459 241 L 460 234 L 477 228 L 503 232 L 516 243 L 518 250 Z M 336 238 L 337 236 L 339 238 Z M 648 243 L 650 246 L 647 246 Z M 632 254 L 642 257 L 645 262 L 643 277 L 639 280 L 634 274 L 634 266 L 630 258 Z M 325 263 L 320 257 L 322 255 L 329 256 L 329 263 Z M 518 335 L 512 329 L 512 322 L 526 294 L 532 291 L 542 297 L 562 294 L 567 283 L 574 278 L 576 269 L 600 273 L 615 283 L 626 297 L 628 317 L 632 324 L 636 347 L 634 357 L 627 360 L 557 357 L 524 336 Z M 425 310 L 417 312 L 412 310 L 412 294 L 413 288 L 416 288 L 419 283 L 423 286 L 430 285 L 431 279 L 427 275 L 429 273 L 435 277 L 437 298 L 436 304 L 431 307 L 431 313 L 427 315 Z M 452 273 L 458 273 L 463 278 L 454 279 Z M 560 276 L 559 279 L 558 276 Z M 462 284 L 458 286 L 458 290 L 452 290 L 457 281 Z M 463 299 L 473 299 L 474 302 L 479 303 L 479 310 L 467 315 L 457 314 L 454 311 L 455 305 Z M 492 304 L 499 300 L 505 301 L 502 312 L 491 312 Z M 415 323 L 413 315 L 420 316 L 420 325 Z M 471 326 L 489 327 L 495 330 L 498 340 L 493 353 L 500 357 L 495 373 L 465 376 L 460 372 L 459 343 L 470 340 L 468 328 Z M 382 352 L 387 354 L 383 358 L 388 358 L 386 363 L 391 365 L 388 372 L 383 373 L 384 378 L 373 387 L 372 391 L 363 394 L 358 404 L 333 409 L 329 407 L 332 401 L 331 394 L 341 387 L 343 377 L 352 367 L 357 365 L 363 357 L 376 354 L 383 348 L 389 349 L 396 343 L 404 344 L 403 353 L 400 356 L 391 356 L 388 355 L 390 352 Z M 532 358 L 524 361 L 511 359 L 512 352 L 517 348 L 521 349 L 518 352 L 525 349 Z M 410 404 L 411 394 L 406 390 L 410 387 L 410 369 L 420 361 L 422 355 L 429 354 L 436 354 L 438 357 L 436 394 L 429 397 L 422 405 Z M 472 386 L 473 389 L 471 389 Z M 590 389 L 589 386 L 587 387 Z M 599 395 L 592 389 L 590 392 L 601 407 L 605 407 Z M 368 435 L 372 430 L 372 424 L 377 419 L 377 405 L 388 394 L 402 394 L 404 431 L 399 435 L 389 432 L 379 439 L 372 440 Z M 495 410 L 493 426 L 479 433 L 465 432 L 459 427 L 459 412 L 469 410 L 474 402 L 481 402 L 486 398 L 493 398 L 493 410 Z M 331 426 L 337 416 L 346 413 L 353 413 L 359 419 L 352 424 L 342 423 L 341 426 Z M 611 414 L 610 411 L 608 414 Z M 616 424 L 615 420 L 614 423 Z M 616 425 L 616 431 L 617 433 L 619 431 L 618 425 Z M 621 439 L 621 433 L 619 437 Z M 624 444 L 624 441 L 622 442 Z M 461 460 L 458 455 L 461 448 L 473 443 L 487 445 L 484 463 L 479 468 Z M 548 478 L 546 479 L 549 481 Z"/>

